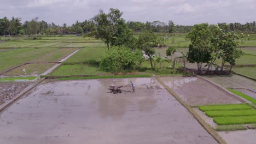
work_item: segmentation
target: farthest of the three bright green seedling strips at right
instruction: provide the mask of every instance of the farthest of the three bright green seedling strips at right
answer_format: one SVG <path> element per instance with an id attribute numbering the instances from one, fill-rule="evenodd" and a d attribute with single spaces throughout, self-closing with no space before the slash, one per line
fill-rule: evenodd
<path id="1" fill-rule="evenodd" d="M 249 110 L 251 106 L 247 104 L 229 104 L 229 105 L 207 105 L 199 106 L 201 111 L 227 111 L 227 110 Z"/>

